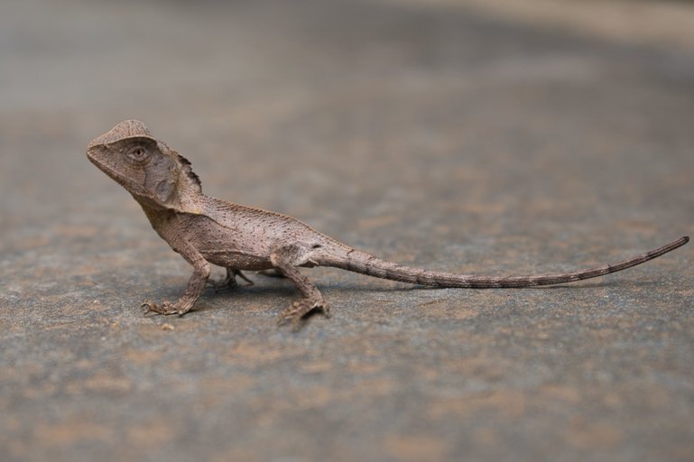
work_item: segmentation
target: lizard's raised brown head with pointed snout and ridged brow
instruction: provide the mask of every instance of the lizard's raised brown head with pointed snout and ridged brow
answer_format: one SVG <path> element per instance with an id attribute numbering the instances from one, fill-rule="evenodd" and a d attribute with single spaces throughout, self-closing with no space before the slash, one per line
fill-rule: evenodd
<path id="1" fill-rule="evenodd" d="M 200 189 L 190 162 L 153 138 L 147 127 L 136 120 L 121 122 L 92 140 L 87 157 L 135 199 L 149 205 L 171 207 L 176 203 L 181 178 Z"/>

